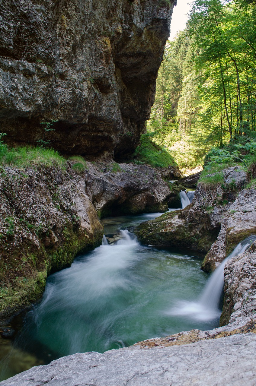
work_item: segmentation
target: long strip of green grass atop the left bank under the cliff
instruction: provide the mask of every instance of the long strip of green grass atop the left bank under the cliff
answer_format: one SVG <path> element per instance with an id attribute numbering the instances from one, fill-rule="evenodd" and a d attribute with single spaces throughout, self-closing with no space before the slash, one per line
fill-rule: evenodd
<path id="1" fill-rule="evenodd" d="M 26 168 L 32 165 L 53 166 L 53 164 L 65 169 L 66 161 L 53 149 L 43 147 L 19 146 L 8 147 L 0 142 L 0 165 Z"/>

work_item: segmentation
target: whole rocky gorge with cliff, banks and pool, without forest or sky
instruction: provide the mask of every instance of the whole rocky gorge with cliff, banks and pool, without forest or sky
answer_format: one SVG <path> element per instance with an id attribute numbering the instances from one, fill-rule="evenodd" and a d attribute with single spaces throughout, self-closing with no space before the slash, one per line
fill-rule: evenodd
<path id="1" fill-rule="evenodd" d="M 0 384 L 254 385 L 255 170 L 134 155 L 175 2 L 0 3 Z"/>

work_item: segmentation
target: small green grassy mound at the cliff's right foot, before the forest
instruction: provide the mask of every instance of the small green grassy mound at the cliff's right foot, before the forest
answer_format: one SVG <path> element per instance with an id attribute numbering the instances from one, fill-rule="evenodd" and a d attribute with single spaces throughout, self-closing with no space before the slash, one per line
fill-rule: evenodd
<path id="1" fill-rule="evenodd" d="M 143 149 L 140 155 L 135 157 L 135 162 L 143 162 L 154 168 L 167 168 L 170 165 L 177 166 L 170 153 L 160 146 L 154 146 L 152 142 L 149 142 L 147 148 Z"/>

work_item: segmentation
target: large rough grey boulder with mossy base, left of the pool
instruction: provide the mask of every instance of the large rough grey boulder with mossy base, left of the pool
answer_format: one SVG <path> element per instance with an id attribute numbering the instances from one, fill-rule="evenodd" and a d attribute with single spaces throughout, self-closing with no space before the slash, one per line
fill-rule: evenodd
<path id="1" fill-rule="evenodd" d="M 0 317 L 31 302 L 47 275 L 101 243 L 103 227 L 72 170 L 2 168 L 0 177 Z"/>

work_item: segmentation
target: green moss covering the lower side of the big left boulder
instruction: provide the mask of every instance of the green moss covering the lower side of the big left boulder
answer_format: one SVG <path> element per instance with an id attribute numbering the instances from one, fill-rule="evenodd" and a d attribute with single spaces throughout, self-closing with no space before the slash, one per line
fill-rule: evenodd
<path id="1" fill-rule="evenodd" d="M 7 317 L 38 301 L 44 291 L 47 275 L 72 264 L 78 252 L 100 245 L 103 231 L 88 236 L 68 223 L 56 246 L 39 249 L 22 244 L 0 260 L 0 317 Z M 26 251 L 31 251 L 30 253 Z M 2 297 L 1 297 L 2 296 Z"/>

